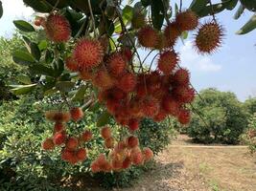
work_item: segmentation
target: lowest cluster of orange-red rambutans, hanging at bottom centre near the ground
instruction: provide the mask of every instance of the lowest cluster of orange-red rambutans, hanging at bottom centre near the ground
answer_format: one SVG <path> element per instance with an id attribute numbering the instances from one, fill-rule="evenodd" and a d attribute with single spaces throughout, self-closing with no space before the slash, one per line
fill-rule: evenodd
<path id="1" fill-rule="evenodd" d="M 107 157 L 105 154 L 100 154 L 99 157 L 91 163 L 93 173 L 121 171 L 128 169 L 132 164 L 142 165 L 153 157 L 150 148 L 140 149 L 139 139 L 134 136 L 130 136 L 115 143 L 114 138 L 111 137 L 109 127 L 104 127 L 101 135 L 105 138 L 105 147 L 111 150 Z"/>

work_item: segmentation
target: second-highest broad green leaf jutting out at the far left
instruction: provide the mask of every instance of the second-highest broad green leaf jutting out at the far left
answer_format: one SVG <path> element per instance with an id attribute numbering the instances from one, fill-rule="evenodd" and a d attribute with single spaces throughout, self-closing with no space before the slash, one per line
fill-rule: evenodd
<path id="1" fill-rule="evenodd" d="M 33 55 L 25 51 L 15 51 L 12 53 L 12 59 L 15 63 L 21 65 L 30 65 L 35 63 Z"/>

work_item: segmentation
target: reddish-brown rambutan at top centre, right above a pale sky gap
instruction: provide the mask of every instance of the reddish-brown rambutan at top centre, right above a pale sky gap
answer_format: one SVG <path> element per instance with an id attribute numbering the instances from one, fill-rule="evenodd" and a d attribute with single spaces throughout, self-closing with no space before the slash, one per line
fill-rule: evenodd
<path id="1" fill-rule="evenodd" d="M 158 43 L 158 32 L 150 26 L 144 27 L 138 32 L 138 41 L 143 47 L 152 49 Z"/>

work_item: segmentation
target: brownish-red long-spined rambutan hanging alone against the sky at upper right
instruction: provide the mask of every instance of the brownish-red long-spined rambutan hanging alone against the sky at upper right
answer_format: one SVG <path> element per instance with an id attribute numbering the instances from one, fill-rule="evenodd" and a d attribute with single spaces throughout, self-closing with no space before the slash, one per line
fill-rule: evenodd
<path id="1" fill-rule="evenodd" d="M 217 22 L 211 21 L 201 25 L 195 40 L 198 53 L 214 53 L 221 46 L 222 36 L 223 29 Z"/>

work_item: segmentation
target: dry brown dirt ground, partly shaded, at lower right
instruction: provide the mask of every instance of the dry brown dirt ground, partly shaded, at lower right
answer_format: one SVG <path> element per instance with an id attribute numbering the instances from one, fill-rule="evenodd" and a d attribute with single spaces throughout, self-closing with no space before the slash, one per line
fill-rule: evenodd
<path id="1" fill-rule="evenodd" d="M 199 145 L 179 136 L 133 187 L 115 191 L 256 191 L 256 158 L 245 146 Z M 103 191 L 100 188 L 91 191 Z"/>

